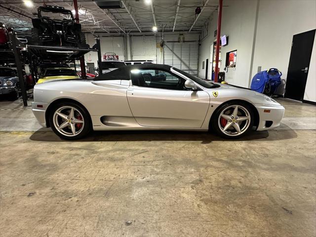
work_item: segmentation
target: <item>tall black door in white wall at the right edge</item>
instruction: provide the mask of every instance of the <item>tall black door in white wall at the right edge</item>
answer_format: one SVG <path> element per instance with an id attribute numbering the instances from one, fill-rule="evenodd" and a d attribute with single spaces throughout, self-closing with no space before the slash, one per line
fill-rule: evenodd
<path id="1" fill-rule="evenodd" d="M 293 36 L 284 97 L 303 101 L 315 30 Z"/>

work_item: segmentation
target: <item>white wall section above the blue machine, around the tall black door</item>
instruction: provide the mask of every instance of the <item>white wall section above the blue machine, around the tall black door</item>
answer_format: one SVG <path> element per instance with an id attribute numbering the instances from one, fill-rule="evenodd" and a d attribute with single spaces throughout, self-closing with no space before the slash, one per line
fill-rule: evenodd
<path id="1" fill-rule="evenodd" d="M 316 1 L 261 0 L 259 4 L 252 76 L 258 66 L 277 68 L 286 81 L 293 35 L 316 28 Z M 315 67 L 311 65 L 310 69 Z M 284 93 L 284 85 L 278 92 Z"/>

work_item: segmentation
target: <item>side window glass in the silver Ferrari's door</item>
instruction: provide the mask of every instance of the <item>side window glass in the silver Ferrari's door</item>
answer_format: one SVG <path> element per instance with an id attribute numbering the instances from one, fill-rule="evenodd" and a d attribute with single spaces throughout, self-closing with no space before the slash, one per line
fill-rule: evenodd
<path id="1" fill-rule="evenodd" d="M 190 90 L 184 86 L 185 79 L 169 72 L 155 69 L 131 70 L 133 85 L 169 90 Z"/>

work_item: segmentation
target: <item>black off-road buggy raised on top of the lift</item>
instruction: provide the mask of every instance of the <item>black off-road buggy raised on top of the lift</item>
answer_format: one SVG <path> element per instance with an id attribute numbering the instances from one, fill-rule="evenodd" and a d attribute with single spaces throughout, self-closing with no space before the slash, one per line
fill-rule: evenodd
<path id="1" fill-rule="evenodd" d="M 40 6 L 38 18 L 33 18 L 29 43 L 43 46 L 88 48 L 81 25 L 75 22 L 71 10 L 61 6 Z"/>

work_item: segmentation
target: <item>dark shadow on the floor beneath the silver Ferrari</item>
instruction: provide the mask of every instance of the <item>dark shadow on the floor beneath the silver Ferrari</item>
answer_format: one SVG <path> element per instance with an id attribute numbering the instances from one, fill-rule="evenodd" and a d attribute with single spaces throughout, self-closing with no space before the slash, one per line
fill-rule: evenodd
<path id="1" fill-rule="evenodd" d="M 211 132 L 188 131 L 94 131 L 87 137 L 73 142 L 120 142 L 120 141 L 201 141 L 208 144 L 212 141 L 276 141 L 297 137 L 294 130 L 253 131 L 234 140 L 224 139 Z M 30 137 L 33 141 L 66 142 L 53 131 L 41 128 Z M 69 141 L 68 141 L 69 142 Z"/>

